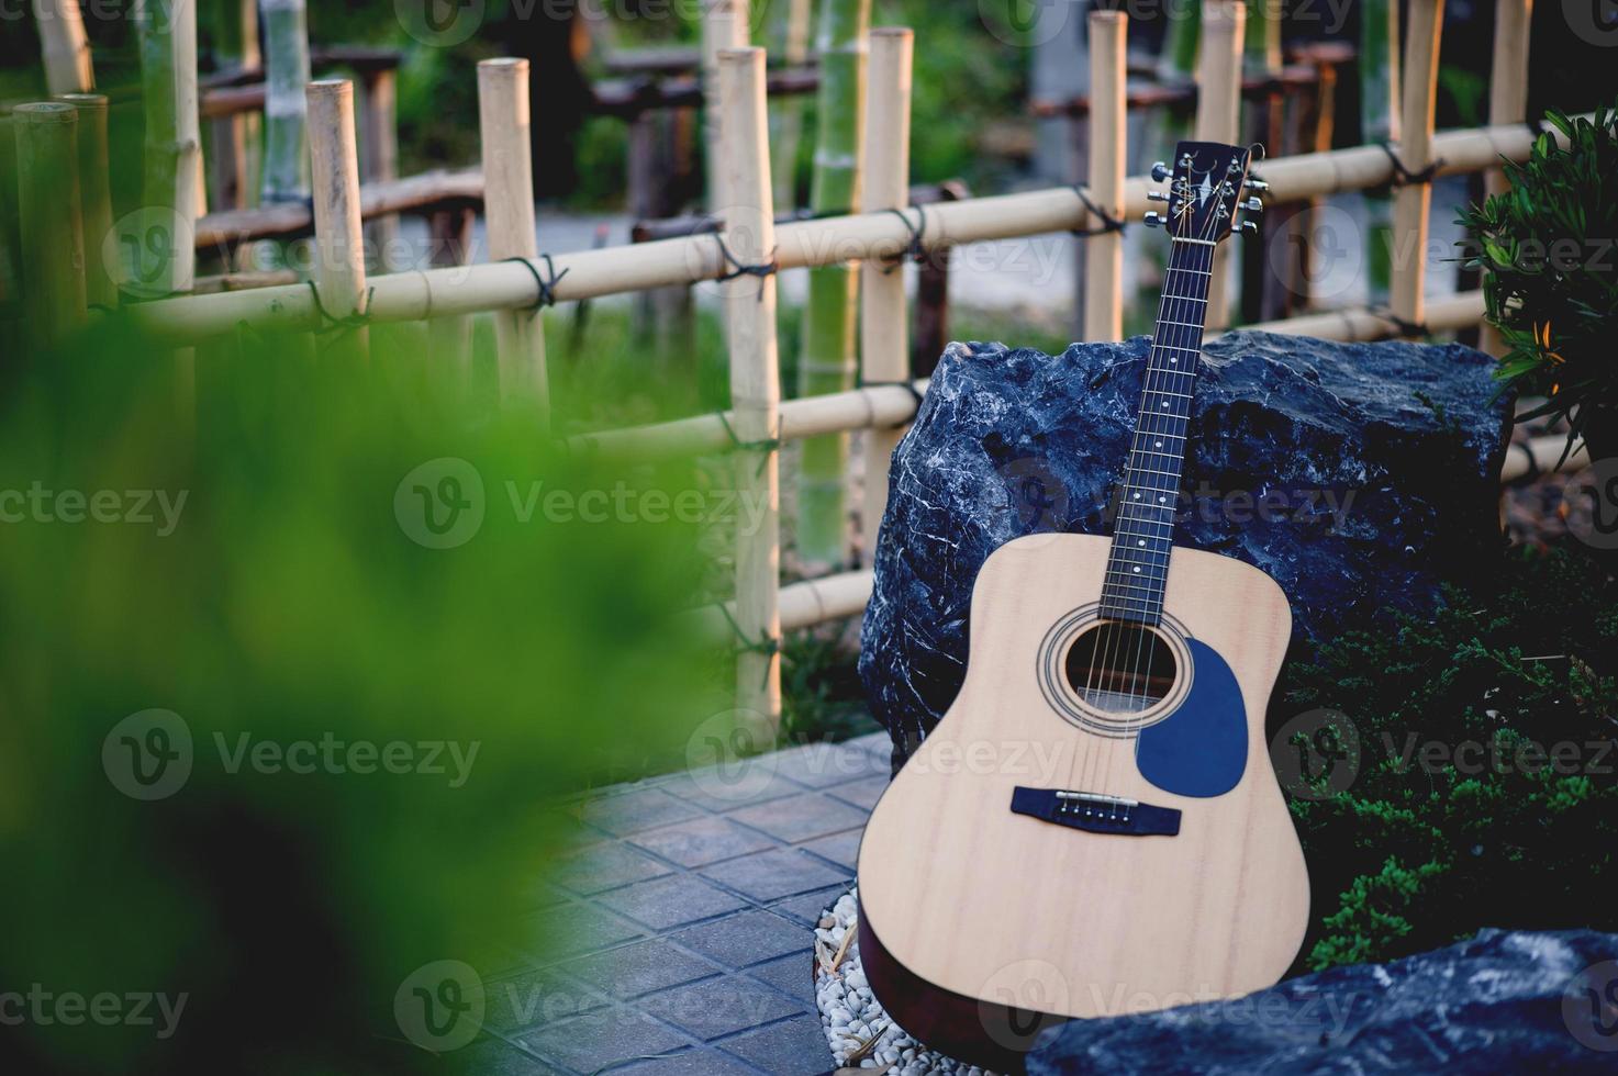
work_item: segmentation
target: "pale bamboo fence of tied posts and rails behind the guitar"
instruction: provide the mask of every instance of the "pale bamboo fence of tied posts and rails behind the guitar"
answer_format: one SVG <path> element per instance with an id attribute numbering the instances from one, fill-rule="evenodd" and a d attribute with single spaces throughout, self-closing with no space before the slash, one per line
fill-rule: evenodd
<path id="1" fill-rule="evenodd" d="M 1513 0 L 1523 3 L 1526 0 Z M 282 0 L 288 8 L 296 0 Z M 1403 141 L 1395 146 L 1361 146 L 1298 154 L 1267 160 L 1259 175 L 1269 183 L 1269 199 L 1302 204 L 1328 194 L 1369 191 L 1400 184 L 1398 217 L 1401 235 L 1425 236 L 1430 202 L 1427 183 L 1438 175 L 1480 173 L 1498 167 L 1500 159 L 1523 160 L 1535 138 L 1519 121 L 1434 131 L 1432 97 L 1437 70 L 1440 0 L 1417 0 L 1411 16 L 1411 47 L 1403 70 Z M 744 10 L 739 0 L 717 0 L 715 11 L 735 18 Z M 1197 131 L 1207 138 L 1231 139 L 1239 131 L 1241 102 L 1241 8 L 1210 5 L 1209 36 L 1204 42 Z M 125 311 L 155 340 L 189 348 L 241 327 L 269 332 L 330 330 L 341 324 L 340 338 L 349 349 L 364 353 L 364 328 L 371 322 L 455 320 L 471 314 L 510 319 L 500 338 L 503 392 L 529 388 L 544 395 L 544 341 L 531 311 L 539 301 L 579 301 L 607 294 L 646 291 L 704 280 L 723 282 L 730 343 L 731 408 L 671 422 L 581 434 L 570 447 L 592 453 L 701 455 L 735 451 L 736 485 L 767 505 L 762 526 L 736 536 L 736 600 L 696 613 L 714 631 L 735 631 L 738 647 L 738 709 L 757 715 L 765 728 L 780 720 L 780 655 L 783 631 L 849 616 L 864 608 L 872 574 L 845 571 L 820 579 L 780 586 L 778 455 L 785 442 L 827 434 L 866 430 L 869 438 L 866 474 L 867 549 L 870 529 L 887 498 L 883 466 L 898 432 L 917 409 L 925 380 L 914 380 L 906 346 L 906 293 L 903 278 L 892 270 L 906 254 L 948 249 L 968 243 L 1008 239 L 1042 233 L 1095 230 L 1107 217 L 1137 217 L 1150 207 L 1149 180 L 1123 176 L 1121 142 L 1126 107 L 1125 24 L 1108 13 L 1091 16 L 1095 50 L 1091 87 L 1092 139 L 1087 189 L 1055 188 L 990 197 L 964 197 L 929 205 L 925 217 L 908 207 L 909 86 L 913 37 L 904 29 L 877 29 L 870 34 L 869 79 L 875 87 L 864 105 L 866 212 L 840 214 L 777 225 L 767 128 L 767 74 L 760 49 L 718 47 L 705 58 L 714 71 L 715 134 L 723 141 L 717 155 L 725 193 L 723 228 L 718 235 L 696 233 L 654 239 L 626 248 L 581 251 L 547 259 L 537 254 L 532 225 L 532 176 L 518 162 L 527 162 L 527 131 L 521 102 L 519 61 L 489 61 L 479 71 L 484 131 L 484 191 L 490 231 L 511 235 L 510 249 L 492 251 L 495 259 L 455 269 L 417 269 L 367 275 L 361 244 L 361 188 L 354 125 L 353 86 L 341 81 L 311 83 L 306 87 L 309 149 L 316 191 L 312 217 L 320 261 L 314 288 L 275 285 L 223 290 L 139 303 Z M 1506 16 L 1502 15 L 1505 21 Z M 744 24 L 744 19 L 743 19 Z M 735 31 L 735 26 L 730 28 Z M 1492 112 L 1510 116 L 1523 110 L 1524 79 L 1497 53 L 1497 78 L 1510 81 L 1513 100 L 1495 100 Z M 176 73 L 178 74 L 178 73 Z M 176 78 L 181 86 L 183 78 Z M 183 89 L 181 89 L 183 94 Z M 194 107 L 194 79 L 191 102 Z M 40 176 L 61 168 L 76 172 L 95 159 L 78 138 L 83 105 L 24 105 L 16 136 L 24 160 L 24 205 L 29 189 L 44 199 Z M 94 112 L 94 110 L 92 110 Z M 176 118 L 183 128 L 183 121 Z M 173 125 L 168 131 L 173 131 Z M 194 125 L 193 125 L 194 129 Z M 92 139 L 94 142 L 94 139 Z M 34 162 L 34 163 L 28 163 Z M 175 168 L 173 176 L 183 176 Z M 173 181 L 172 176 L 172 181 Z M 183 178 L 180 180 L 183 186 Z M 32 184 L 32 186 L 29 186 Z M 73 183 L 78 191 L 79 184 Z M 49 201 L 49 199 L 45 199 Z M 180 202 L 181 199 L 175 199 Z M 70 204 L 71 212 L 63 209 Z M 84 215 L 78 199 L 53 201 L 58 218 L 50 230 L 83 236 Z M 29 227 L 47 227 L 45 215 Z M 502 223 L 503 222 L 503 223 Z M 24 223 L 28 217 L 24 217 Z M 529 236 L 523 241 L 521 236 Z M 1097 238 L 1102 241 L 1097 243 Z M 1116 236 L 1091 238 L 1089 286 L 1094 306 L 1086 309 L 1087 337 L 1116 337 L 1121 306 L 1123 265 Z M 45 244 L 49 246 L 49 244 Z M 45 322 L 50 335 L 65 335 L 84 319 L 84 257 L 71 244 L 68 254 L 50 264 L 39 288 L 49 294 L 57 314 Z M 1427 332 L 1474 327 L 1482 320 L 1482 294 L 1468 291 L 1427 301 L 1424 286 L 1424 246 L 1417 243 L 1409 259 L 1395 257 L 1395 278 L 1388 311 L 1348 309 L 1309 314 L 1247 328 L 1307 333 L 1335 340 L 1375 340 Z M 861 361 L 862 387 L 827 395 L 781 401 L 777 369 L 775 270 L 859 264 L 862 296 Z M 738 272 L 746 269 L 748 272 Z M 540 273 L 545 273 L 542 277 Z M 549 283 L 545 283 L 549 280 Z M 188 280 L 189 286 L 189 280 Z M 515 327 L 523 332 L 515 332 Z M 1218 325 L 1210 327 L 1217 335 Z M 333 345 L 328 345 L 333 346 Z M 505 377 L 511 372 L 510 382 Z M 1513 450 L 1502 472 L 1511 481 L 1552 468 L 1561 450 L 1560 438 L 1544 438 Z"/>

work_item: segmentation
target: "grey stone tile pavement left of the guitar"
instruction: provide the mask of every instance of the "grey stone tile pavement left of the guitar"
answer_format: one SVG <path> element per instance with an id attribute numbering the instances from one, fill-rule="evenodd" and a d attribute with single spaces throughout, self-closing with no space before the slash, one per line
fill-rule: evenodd
<path id="1" fill-rule="evenodd" d="M 812 927 L 854 877 L 883 733 L 618 785 L 540 887 L 545 960 L 484 976 L 490 1076 L 820 1076 Z"/>

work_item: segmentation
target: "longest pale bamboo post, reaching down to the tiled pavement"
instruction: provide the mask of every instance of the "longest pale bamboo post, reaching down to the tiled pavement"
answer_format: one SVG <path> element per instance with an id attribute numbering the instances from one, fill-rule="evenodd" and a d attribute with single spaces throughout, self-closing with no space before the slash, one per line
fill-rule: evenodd
<path id="1" fill-rule="evenodd" d="M 743 265 L 775 256 L 770 197 L 769 108 L 762 49 L 726 49 L 717 57 L 723 186 L 731 205 L 725 244 Z M 781 717 L 780 613 L 780 434 L 781 383 L 775 349 L 775 277 L 738 275 L 725 285 L 730 328 L 730 400 L 736 438 L 736 492 L 757 506 L 757 526 L 736 529 L 736 709 L 773 735 Z M 749 532 L 751 531 L 751 532 Z"/>

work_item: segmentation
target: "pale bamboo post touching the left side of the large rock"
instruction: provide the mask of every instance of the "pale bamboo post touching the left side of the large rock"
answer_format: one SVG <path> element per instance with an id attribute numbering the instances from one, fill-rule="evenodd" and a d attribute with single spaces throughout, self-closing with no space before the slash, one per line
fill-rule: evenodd
<path id="1" fill-rule="evenodd" d="M 870 31 L 870 92 L 866 95 L 866 209 L 903 209 L 909 202 L 909 104 L 916 36 L 906 28 Z M 861 380 L 909 380 L 903 262 L 861 265 Z M 877 550 L 877 527 L 888 508 L 888 460 L 901 429 L 866 430 L 866 503 L 861 532 L 866 560 Z"/>

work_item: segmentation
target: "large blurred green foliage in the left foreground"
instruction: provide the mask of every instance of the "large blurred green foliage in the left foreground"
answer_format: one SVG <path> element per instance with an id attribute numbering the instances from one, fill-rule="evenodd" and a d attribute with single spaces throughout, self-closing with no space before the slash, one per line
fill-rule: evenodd
<path id="1" fill-rule="evenodd" d="M 403 341 L 372 327 L 367 367 L 306 337 L 205 345 L 194 434 L 175 356 L 118 319 L 8 356 L 0 984 L 189 1003 L 170 1039 L 8 1027 L 0 1070 L 432 1066 L 395 1021 L 404 977 L 537 960 L 539 880 L 574 825 L 561 798 L 678 769 L 730 707 L 725 654 L 676 620 L 701 524 L 519 516 L 536 482 L 675 497 L 686 476 L 561 453 Z M 455 498 L 484 515 L 430 549 L 416 513 L 451 500 L 442 460 L 481 479 Z M 121 521 L 86 516 L 102 492 Z M 134 744 L 115 727 L 154 707 L 184 722 L 193 765 L 147 803 L 121 791 Z M 341 749 L 307 773 L 238 754 L 327 739 L 404 744 L 409 772 Z"/>

